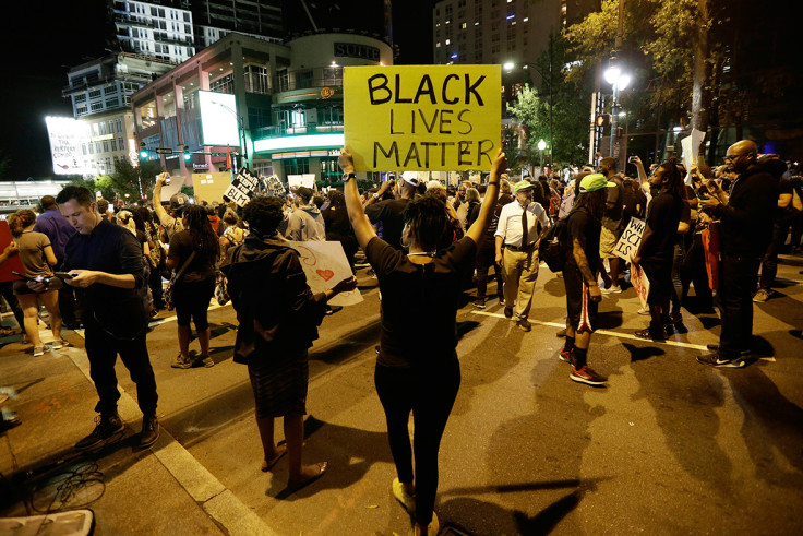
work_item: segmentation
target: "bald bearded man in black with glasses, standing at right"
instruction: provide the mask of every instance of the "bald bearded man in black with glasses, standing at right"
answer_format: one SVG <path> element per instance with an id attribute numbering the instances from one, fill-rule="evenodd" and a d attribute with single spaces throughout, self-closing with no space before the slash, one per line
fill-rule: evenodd
<path id="1" fill-rule="evenodd" d="M 697 357 L 711 367 L 744 367 L 753 336 L 753 291 L 758 266 L 772 238 L 772 216 L 778 205 L 778 179 L 757 163 L 756 144 L 742 140 L 728 147 L 726 162 L 739 176 L 728 204 L 716 198 L 703 209 L 720 219 L 719 301 L 722 332 L 714 350 Z"/>

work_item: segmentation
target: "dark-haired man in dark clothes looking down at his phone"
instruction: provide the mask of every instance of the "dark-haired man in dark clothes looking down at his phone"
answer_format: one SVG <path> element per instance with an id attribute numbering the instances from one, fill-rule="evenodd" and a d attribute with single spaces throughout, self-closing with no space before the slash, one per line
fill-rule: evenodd
<path id="1" fill-rule="evenodd" d="M 28 282 L 34 291 L 61 288 L 64 283 L 76 289 L 83 303 L 86 356 L 89 376 L 99 397 L 95 410 L 97 426 L 75 444 L 80 451 L 96 450 L 120 438 L 123 424 L 117 413 L 115 361 L 120 355 L 136 383 L 136 398 L 143 413 L 139 448 L 154 444 L 159 436 L 156 419 L 156 379 L 147 354 L 145 334 L 147 314 L 141 291 L 144 285 L 142 249 L 125 227 L 104 219 L 92 192 L 83 187 L 65 187 L 56 196 L 59 211 L 77 231 L 64 247 L 64 266 L 72 277 L 52 277 Z"/>

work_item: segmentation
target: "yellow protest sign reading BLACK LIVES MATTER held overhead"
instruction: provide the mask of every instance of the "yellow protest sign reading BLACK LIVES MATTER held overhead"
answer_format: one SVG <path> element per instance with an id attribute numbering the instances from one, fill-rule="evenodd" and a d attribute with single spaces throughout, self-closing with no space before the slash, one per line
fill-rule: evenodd
<path id="1" fill-rule="evenodd" d="M 358 171 L 490 170 L 500 65 L 346 67 L 346 146 Z"/>

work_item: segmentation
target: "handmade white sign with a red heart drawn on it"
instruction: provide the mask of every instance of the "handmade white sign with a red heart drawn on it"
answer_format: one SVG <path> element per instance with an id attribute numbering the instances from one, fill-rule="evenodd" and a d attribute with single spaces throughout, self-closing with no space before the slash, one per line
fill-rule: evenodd
<path id="1" fill-rule="evenodd" d="M 295 240 L 288 240 L 288 242 L 292 249 L 298 251 L 301 267 L 303 267 L 307 276 L 307 284 L 313 293 L 323 293 L 353 275 L 340 242 L 298 242 Z M 355 288 L 349 293 L 338 294 L 329 300 L 329 303 L 333 306 L 353 306 L 360 301 L 362 301 L 362 295 Z"/>

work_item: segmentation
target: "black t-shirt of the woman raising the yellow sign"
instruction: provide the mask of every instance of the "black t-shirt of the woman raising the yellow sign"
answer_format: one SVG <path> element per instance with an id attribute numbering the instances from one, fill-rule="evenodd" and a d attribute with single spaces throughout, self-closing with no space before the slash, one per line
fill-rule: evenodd
<path id="1" fill-rule="evenodd" d="M 474 266 L 476 250 L 475 241 L 464 237 L 439 251 L 433 262 L 414 264 L 381 238 L 371 239 L 365 257 L 382 291 L 380 365 L 409 368 L 454 357 L 463 274 Z"/>

